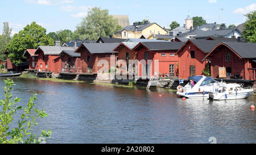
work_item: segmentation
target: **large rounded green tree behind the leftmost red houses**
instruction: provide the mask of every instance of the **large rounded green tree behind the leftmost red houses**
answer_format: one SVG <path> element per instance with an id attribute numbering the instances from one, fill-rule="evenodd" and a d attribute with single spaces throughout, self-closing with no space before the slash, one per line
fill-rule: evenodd
<path id="1" fill-rule="evenodd" d="M 46 28 L 32 22 L 14 35 L 6 50 L 11 62 L 19 64 L 26 49 L 36 49 L 40 45 L 54 45 L 54 41 L 52 37 L 46 35 Z"/>

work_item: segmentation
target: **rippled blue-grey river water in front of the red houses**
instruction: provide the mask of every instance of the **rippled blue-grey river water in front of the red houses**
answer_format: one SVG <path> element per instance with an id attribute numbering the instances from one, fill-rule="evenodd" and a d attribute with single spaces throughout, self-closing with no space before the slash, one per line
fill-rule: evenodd
<path id="1" fill-rule="evenodd" d="M 217 143 L 256 143 L 254 96 L 183 101 L 165 89 L 12 79 L 22 106 L 38 94 L 36 107 L 48 117 L 38 120 L 33 133 L 52 129 L 47 143 L 209 143 L 210 137 Z"/>

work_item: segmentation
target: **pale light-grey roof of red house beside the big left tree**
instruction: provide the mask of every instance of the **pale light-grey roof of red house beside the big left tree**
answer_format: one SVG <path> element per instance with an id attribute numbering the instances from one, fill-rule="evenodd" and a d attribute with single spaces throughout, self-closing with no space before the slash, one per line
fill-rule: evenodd
<path id="1" fill-rule="evenodd" d="M 61 46 L 39 46 L 36 49 L 35 54 L 38 53 L 39 49 L 44 52 L 44 55 L 59 55 L 63 50 L 75 50 L 75 47 L 61 47 Z"/>

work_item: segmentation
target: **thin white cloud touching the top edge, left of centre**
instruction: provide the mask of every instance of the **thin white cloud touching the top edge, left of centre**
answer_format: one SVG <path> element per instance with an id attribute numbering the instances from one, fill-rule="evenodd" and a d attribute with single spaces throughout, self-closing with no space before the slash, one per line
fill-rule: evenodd
<path id="1" fill-rule="evenodd" d="M 26 3 L 34 3 L 37 5 L 60 5 L 73 3 L 74 0 L 25 0 Z"/>

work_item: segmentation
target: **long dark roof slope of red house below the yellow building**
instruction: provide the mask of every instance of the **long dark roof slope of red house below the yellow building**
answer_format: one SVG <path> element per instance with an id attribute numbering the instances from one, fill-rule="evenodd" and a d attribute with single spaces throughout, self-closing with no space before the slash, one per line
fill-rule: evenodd
<path id="1" fill-rule="evenodd" d="M 178 50 L 182 47 L 184 42 L 143 42 L 141 43 L 150 51 L 160 51 L 160 50 Z"/>

